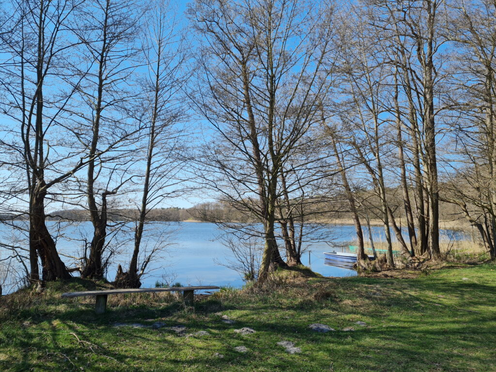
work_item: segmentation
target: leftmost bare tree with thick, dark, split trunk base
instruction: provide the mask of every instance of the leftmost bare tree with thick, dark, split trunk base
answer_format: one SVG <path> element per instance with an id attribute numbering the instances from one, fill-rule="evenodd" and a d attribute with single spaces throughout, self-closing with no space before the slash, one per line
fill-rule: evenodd
<path id="1" fill-rule="evenodd" d="M 44 280 L 68 278 L 45 224 L 45 203 L 51 188 L 88 162 L 73 146 L 73 130 L 62 120 L 74 97 L 70 86 L 77 86 L 71 58 L 79 42 L 74 41 L 71 26 L 80 2 L 18 0 L 5 6 L 12 17 L 4 25 L 10 32 L 0 33 L 2 115 L 8 118 L 8 136 L 1 146 L 15 159 L 14 164 L 2 164 L 14 185 L 5 203 L 12 210 L 19 210 L 22 203 L 29 206 L 31 280 L 39 279 L 38 258 Z M 69 89 L 57 90 L 56 85 Z M 12 194 L 17 198 L 14 203 Z"/>

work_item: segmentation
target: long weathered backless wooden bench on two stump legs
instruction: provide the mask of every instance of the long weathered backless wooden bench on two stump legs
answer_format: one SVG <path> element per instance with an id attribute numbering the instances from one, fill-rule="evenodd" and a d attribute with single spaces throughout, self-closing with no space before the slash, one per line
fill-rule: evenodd
<path id="1" fill-rule="evenodd" d="M 95 296 L 95 312 L 103 314 L 107 308 L 107 296 L 120 293 L 146 293 L 146 292 L 183 292 L 183 299 L 186 306 L 193 306 L 194 291 L 205 289 L 220 289 L 216 286 L 199 287 L 169 287 L 169 288 L 130 288 L 130 289 L 109 289 L 103 291 L 83 291 L 62 293 L 62 297 L 87 297 Z"/>

